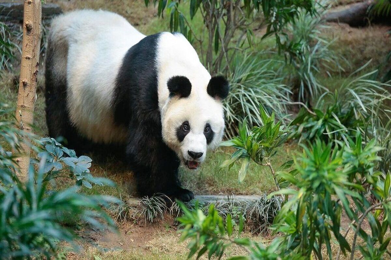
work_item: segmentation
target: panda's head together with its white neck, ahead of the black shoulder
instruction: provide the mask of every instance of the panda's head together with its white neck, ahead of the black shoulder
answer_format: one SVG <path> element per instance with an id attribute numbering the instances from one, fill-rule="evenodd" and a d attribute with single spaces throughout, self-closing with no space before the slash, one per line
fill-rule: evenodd
<path id="1" fill-rule="evenodd" d="M 221 101 L 228 95 L 228 82 L 211 77 L 178 33 L 160 34 L 156 64 L 163 141 L 189 169 L 196 169 L 224 134 Z"/>

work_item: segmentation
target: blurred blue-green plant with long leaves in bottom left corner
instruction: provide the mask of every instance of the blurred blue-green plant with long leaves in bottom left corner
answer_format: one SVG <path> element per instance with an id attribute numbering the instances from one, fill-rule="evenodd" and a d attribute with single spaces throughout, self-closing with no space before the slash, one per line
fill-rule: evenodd
<path id="1" fill-rule="evenodd" d="M 108 196 L 87 196 L 77 187 L 50 191 L 44 181 L 42 162 L 38 173 L 30 171 L 26 185 L 17 182 L 11 187 L 0 186 L 0 255 L 25 259 L 38 253 L 50 258 L 59 241 L 72 242 L 77 235 L 61 223 L 73 219 L 94 228 L 114 223 L 101 206 L 115 199 Z"/>

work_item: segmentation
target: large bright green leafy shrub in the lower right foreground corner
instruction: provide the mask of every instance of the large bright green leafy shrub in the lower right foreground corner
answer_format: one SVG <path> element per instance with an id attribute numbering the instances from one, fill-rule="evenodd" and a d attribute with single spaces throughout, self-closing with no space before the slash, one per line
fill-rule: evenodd
<path id="1" fill-rule="evenodd" d="M 346 254 L 349 251 L 350 259 L 353 259 L 357 237 L 369 242 L 365 248 L 357 247 L 363 255 L 378 257 L 378 254 L 385 253 L 389 238 L 384 231 L 389 223 L 378 217 L 380 212 L 388 214 L 390 197 L 389 187 L 384 189 L 384 184 L 378 179 L 379 173 L 374 171 L 375 162 L 380 160 L 377 152 L 381 150 L 375 140 L 362 146 L 361 134 L 357 132 L 355 141 L 348 138 L 340 149 L 332 149 L 332 144 L 326 145 L 319 140 L 313 146 L 303 148 L 303 156 L 295 160 L 297 172 L 279 173 L 294 188 L 274 193 L 290 195 L 276 217 L 278 224 L 274 230 L 285 233 L 287 245 L 292 245 L 292 250 L 298 250 L 300 255 L 305 256 L 314 252 L 318 259 L 323 259 L 323 244 L 327 249 L 326 255 L 332 258 L 332 235 L 339 242 L 337 259 L 341 252 Z M 373 186 L 371 193 L 380 201 L 376 206 L 368 201 L 365 183 Z M 380 211 L 372 214 L 376 207 Z M 342 211 L 352 221 L 345 234 L 341 232 Z M 364 219 L 370 223 L 371 234 L 362 230 Z M 349 244 L 346 236 L 351 228 L 354 239 Z"/>

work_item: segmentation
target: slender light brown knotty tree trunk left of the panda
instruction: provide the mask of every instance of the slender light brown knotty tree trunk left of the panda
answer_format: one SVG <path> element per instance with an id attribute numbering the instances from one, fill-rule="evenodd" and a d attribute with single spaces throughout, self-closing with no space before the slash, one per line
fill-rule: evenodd
<path id="1" fill-rule="evenodd" d="M 22 62 L 20 65 L 20 80 L 18 101 L 16 103 L 16 120 L 18 127 L 27 134 L 31 133 L 33 123 L 34 104 L 39 66 L 39 46 L 41 45 L 41 0 L 25 0 L 23 11 L 23 41 Z M 27 136 L 22 144 L 20 157 L 16 162 L 20 166 L 19 179 L 27 180 L 30 146 Z"/>

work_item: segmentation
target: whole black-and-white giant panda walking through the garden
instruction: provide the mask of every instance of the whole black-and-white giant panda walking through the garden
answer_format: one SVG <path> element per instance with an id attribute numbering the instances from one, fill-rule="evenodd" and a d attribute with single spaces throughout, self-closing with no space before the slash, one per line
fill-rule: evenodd
<path id="1" fill-rule="evenodd" d="M 52 21 L 45 77 L 50 136 L 79 152 L 123 151 L 140 195 L 194 197 L 178 167 L 196 168 L 221 141 L 228 83 L 211 78 L 185 37 L 144 36 L 107 11 L 70 12 Z"/>

